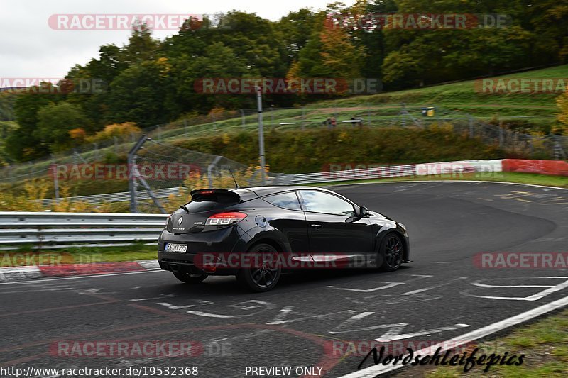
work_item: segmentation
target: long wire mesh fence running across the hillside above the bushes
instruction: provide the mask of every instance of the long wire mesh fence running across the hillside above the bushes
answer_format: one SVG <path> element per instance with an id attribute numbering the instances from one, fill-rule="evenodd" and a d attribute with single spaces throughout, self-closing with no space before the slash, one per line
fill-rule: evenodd
<path id="1" fill-rule="evenodd" d="M 388 105 L 362 105 L 351 107 L 295 107 L 274 108 L 268 107 L 264 111 L 264 125 L 275 130 L 315 130 L 331 127 L 426 127 L 432 123 L 452 123 L 457 132 L 466 133 L 471 137 L 481 137 L 486 143 L 498 143 L 504 150 L 517 150 L 522 147 L 523 141 L 531 141 L 533 148 L 539 155 L 547 158 L 559 156 L 559 144 L 564 152 L 567 150 L 568 137 L 535 135 L 515 133 L 507 128 L 501 132 L 501 127 L 488 123 L 484 118 L 474 117 L 467 113 L 437 107 L 434 116 L 427 116 L 427 107 L 417 104 L 402 106 Z M 549 119 L 554 122 L 554 116 L 508 116 L 506 119 L 518 118 L 523 121 L 542 122 Z M 471 130 L 473 128 L 473 130 Z M 249 132 L 258 130 L 258 113 L 256 109 L 239 109 L 236 111 L 217 111 L 209 115 L 196 115 L 174 121 L 165 125 L 156 125 L 145 128 L 141 133 L 129 133 L 97 143 L 87 143 L 72 150 L 58 152 L 47 159 L 38 159 L 31 162 L 13 164 L 0 168 L 0 182 L 21 174 L 38 172 L 48 169 L 50 165 L 77 164 L 79 162 L 99 162 L 116 160 L 116 156 L 124 157 L 141 135 L 148 135 L 153 140 L 170 143 L 181 138 L 199 138 L 207 135 L 224 133 Z M 503 135 L 502 135 L 503 134 Z M 515 135 L 516 134 L 516 135 Z M 500 139 L 501 138 L 501 139 Z M 555 140 L 554 142 L 551 142 Z M 528 143 L 529 146 L 531 143 Z M 530 147 L 528 148 L 530 151 Z M 562 153 L 560 153 L 560 156 Z"/>

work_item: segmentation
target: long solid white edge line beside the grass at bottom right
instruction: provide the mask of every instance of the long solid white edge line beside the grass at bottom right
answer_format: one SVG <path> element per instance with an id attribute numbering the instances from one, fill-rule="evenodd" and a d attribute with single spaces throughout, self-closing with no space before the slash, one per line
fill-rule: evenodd
<path id="1" fill-rule="evenodd" d="M 437 350 L 437 348 L 442 348 L 442 352 L 444 352 L 445 350 L 447 350 L 447 348 L 456 348 L 459 347 L 460 345 L 471 343 L 471 341 L 479 340 L 480 338 L 485 338 L 488 335 L 496 333 L 500 330 L 510 328 L 525 321 L 530 321 L 530 319 L 532 318 L 544 315 L 545 313 L 549 313 L 550 311 L 555 311 L 567 305 L 568 305 L 568 296 L 562 299 L 558 299 L 557 301 L 550 302 L 550 304 L 544 304 L 537 308 L 533 308 L 532 310 L 525 311 L 515 316 L 511 316 L 510 318 L 503 319 L 502 321 L 498 321 L 488 326 L 472 330 L 469 333 L 464 333 L 464 335 L 460 335 L 457 338 L 452 338 L 450 340 L 443 341 L 442 343 L 437 343 L 436 345 L 432 345 L 428 348 L 423 348 L 415 352 L 415 355 L 432 355 L 432 353 L 434 353 Z M 361 369 L 356 372 L 346 374 L 339 378 L 374 378 L 380 374 L 393 372 L 394 370 L 400 369 L 401 367 L 403 367 L 403 365 L 388 365 L 388 366 L 373 365 L 371 367 L 366 367 L 365 369 Z"/>

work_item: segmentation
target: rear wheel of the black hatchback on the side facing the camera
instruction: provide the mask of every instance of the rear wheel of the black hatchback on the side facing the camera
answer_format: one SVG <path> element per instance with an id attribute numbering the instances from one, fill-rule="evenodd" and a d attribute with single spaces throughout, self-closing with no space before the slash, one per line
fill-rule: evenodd
<path id="1" fill-rule="evenodd" d="M 278 280 L 280 280 L 282 269 L 277 264 L 271 265 L 269 262 L 265 264 L 264 255 L 267 257 L 271 255 L 277 256 L 278 251 L 270 244 L 261 243 L 253 246 L 247 253 L 251 255 L 263 255 L 263 259 L 261 259 L 263 261 L 260 262 L 260 266 L 241 268 L 239 273 L 236 274 L 237 282 L 239 282 L 244 289 L 256 293 L 273 289 L 273 287 L 278 284 Z M 251 259 L 251 261 L 254 261 L 254 259 Z"/>

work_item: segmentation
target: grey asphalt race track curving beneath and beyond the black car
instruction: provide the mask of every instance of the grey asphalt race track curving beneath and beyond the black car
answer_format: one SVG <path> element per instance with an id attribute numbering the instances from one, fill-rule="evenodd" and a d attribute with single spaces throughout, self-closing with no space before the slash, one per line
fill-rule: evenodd
<path id="1" fill-rule="evenodd" d="M 484 182 L 333 189 L 405 224 L 414 262 L 394 273 L 290 274 L 264 294 L 241 291 L 234 277 L 190 287 L 161 271 L 0 284 L 1 365 L 195 366 L 199 377 L 289 365 L 341 377 L 363 356 L 340 355 L 334 341 L 459 338 L 567 296 L 568 269 L 484 269 L 474 255 L 568 252 L 568 190 Z M 199 347 L 192 357 L 62 357 L 65 340 Z"/>

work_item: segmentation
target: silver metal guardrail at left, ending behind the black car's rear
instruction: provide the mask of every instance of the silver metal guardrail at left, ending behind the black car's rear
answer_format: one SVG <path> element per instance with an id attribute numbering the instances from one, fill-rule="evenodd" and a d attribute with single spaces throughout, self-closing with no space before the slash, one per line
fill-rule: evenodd
<path id="1" fill-rule="evenodd" d="M 165 215 L 0 212 L 0 250 L 153 243 Z"/>

